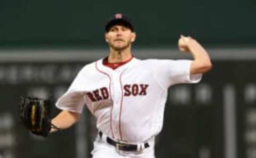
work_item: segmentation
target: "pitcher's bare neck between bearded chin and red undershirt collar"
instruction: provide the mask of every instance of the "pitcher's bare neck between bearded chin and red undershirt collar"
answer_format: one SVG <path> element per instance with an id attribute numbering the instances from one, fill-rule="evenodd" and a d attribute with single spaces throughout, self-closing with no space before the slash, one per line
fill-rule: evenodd
<path id="1" fill-rule="evenodd" d="M 124 50 L 114 50 L 110 48 L 110 54 L 108 56 L 108 63 L 119 63 L 126 62 L 132 58 L 131 48 L 126 48 Z"/>

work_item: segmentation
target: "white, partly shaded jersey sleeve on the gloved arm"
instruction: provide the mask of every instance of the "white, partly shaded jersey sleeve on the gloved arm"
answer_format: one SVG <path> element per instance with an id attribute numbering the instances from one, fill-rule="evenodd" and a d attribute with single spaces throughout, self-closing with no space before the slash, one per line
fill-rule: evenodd
<path id="1" fill-rule="evenodd" d="M 74 81 L 56 102 L 55 106 L 61 110 L 82 113 L 85 104 L 83 85 L 86 70 L 83 68 L 75 77 Z"/>

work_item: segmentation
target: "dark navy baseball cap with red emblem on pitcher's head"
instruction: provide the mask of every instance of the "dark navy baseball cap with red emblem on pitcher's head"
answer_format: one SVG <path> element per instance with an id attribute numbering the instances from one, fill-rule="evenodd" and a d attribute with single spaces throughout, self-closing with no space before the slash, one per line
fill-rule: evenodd
<path id="1" fill-rule="evenodd" d="M 117 13 L 110 17 L 109 21 L 105 25 L 105 31 L 108 32 L 111 27 L 114 25 L 123 25 L 133 32 L 133 25 L 130 17 L 123 14 Z"/>

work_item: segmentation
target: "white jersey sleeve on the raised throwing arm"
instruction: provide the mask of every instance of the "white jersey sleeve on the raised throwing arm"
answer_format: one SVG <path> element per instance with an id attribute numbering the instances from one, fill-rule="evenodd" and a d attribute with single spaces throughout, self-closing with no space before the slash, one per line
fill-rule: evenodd
<path id="1" fill-rule="evenodd" d="M 163 87 L 180 83 L 198 83 L 202 74 L 190 75 L 192 60 L 155 60 L 153 67 L 155 80 Z"/>

